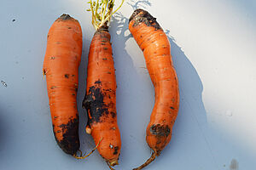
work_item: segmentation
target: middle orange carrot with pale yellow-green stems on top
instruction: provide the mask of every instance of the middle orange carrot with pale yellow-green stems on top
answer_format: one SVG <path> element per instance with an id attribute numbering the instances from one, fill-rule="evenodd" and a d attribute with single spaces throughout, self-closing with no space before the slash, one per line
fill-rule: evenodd
<path id="1" fill-rule="evenodd" d="M 96 32 L 90 43 L 86 94 L 83 107 L 88 113 L 86 133 L 92 135 L 100 155 L 109 166 L 118 165 L 121 139 L 116 113 L 116 80 L 108 24 L 113 0 L 90 1 L 92 24 Z M 122 1 L 124 3 L 124 1 Z M 101 11 L 98 13 L 98 9 Z M 99 144 L 100 139 L 102 139 Z"/>

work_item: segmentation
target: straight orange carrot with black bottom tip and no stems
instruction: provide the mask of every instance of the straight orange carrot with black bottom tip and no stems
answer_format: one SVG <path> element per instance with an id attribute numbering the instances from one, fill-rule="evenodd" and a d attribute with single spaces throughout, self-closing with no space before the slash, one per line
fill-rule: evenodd
<path id="1" fill-rule="evenodd" d="M 79 150 L 77 91 L 82 54 L 79 21 L 62 14 L 49 29 L 44 57 L 49 108 L 57 144 L 67 154 Z"/>

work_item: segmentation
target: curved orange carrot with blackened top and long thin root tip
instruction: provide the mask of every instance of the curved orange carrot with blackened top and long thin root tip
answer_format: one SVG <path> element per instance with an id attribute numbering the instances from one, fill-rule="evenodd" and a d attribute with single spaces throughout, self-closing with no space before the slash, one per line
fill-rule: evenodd
<path id="1" fill-rule="evenodd" d="M 170 142 L 179 107 L 179 92 L 170 42 L 155 18 L 143 9 L 136 9 L 131 14 L 129 30 L 143 50 L 154 85 L 154 109 L 146 130 L 146 140 L 153 154 L 142 166 L 134 169 L 139 170 L 160 156 L 161 150 Z"/>

